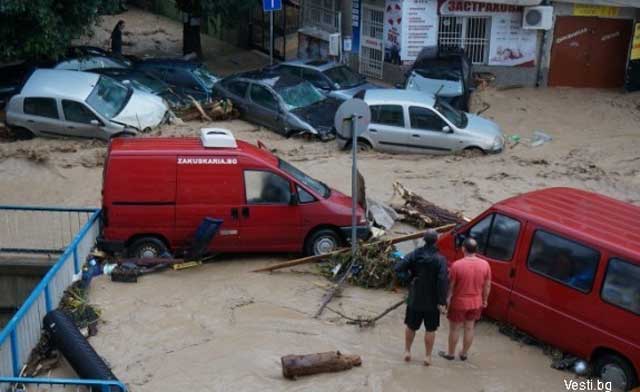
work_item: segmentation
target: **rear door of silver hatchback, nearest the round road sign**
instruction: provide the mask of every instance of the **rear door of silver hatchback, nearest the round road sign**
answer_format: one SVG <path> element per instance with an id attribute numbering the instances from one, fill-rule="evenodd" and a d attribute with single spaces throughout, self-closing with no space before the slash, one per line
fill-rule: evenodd
<path id="1" fill-rule="evenodd" d="M 406 147 L 404 107 L 402 105 L 370 105 L 371 123 L 365 137 L 380 151 L 400 152 Z"/>

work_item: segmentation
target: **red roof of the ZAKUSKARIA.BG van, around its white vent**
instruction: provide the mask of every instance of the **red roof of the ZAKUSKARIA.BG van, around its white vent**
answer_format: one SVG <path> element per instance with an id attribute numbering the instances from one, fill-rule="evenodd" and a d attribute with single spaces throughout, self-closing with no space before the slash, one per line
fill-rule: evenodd
<path id="1" fill-rule="evenodd" d="M 268 150 L 258 148 L 242 140 L 236 140 L 236 148 L 206 148 L 199 138 L 116 138 L 112 139 L 110 155 L 251 155 L 269 164 L 277 164 L 277 158 Z"/>

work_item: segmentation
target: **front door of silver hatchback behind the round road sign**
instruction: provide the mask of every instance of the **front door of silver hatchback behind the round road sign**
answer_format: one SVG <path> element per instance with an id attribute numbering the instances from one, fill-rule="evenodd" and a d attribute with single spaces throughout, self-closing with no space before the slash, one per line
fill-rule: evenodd
<path id="1" fill-rule="evenodd" d="M 455 149 L 453 128 L 432 109 L 410 106 L 409 122 L 410 131 L 404 143 L 410 151 L 443 154 Z"/>

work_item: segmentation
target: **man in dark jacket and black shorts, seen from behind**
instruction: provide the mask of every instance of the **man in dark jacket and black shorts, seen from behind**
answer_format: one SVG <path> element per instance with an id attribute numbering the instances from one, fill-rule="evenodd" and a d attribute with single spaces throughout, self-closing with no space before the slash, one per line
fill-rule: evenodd
<path id="1" fill-rule="evenodd" d="M 411 345 L 416 331 L 424 323 L 425 366 L 431 365 L 431 352 L 436 338 L 436 330 L 440 326 L 440 314 L 446 313 L 449 277 L 447 261 L 438 252 L 436 242 L 438 233 L 427 230 L 424 235 L 424 246 L 409 253 L 395 270 L 397 273 L 409 273 L 411 285 L 407 300 L 407 312 L 404 323 L 405 352 L 404 360 L 411 360 Z"/>

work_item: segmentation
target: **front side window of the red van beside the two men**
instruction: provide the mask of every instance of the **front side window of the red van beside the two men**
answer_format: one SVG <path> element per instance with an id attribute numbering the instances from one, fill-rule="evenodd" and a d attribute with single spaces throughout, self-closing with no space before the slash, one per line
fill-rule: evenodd
<path id="1" fill-rule="evenodd" d="M 502 261 L 513 258 L 518 234 L 520 222 L 501 214 L 491 214 L 469 230 L 478 241 L 478 253 Z"/>

